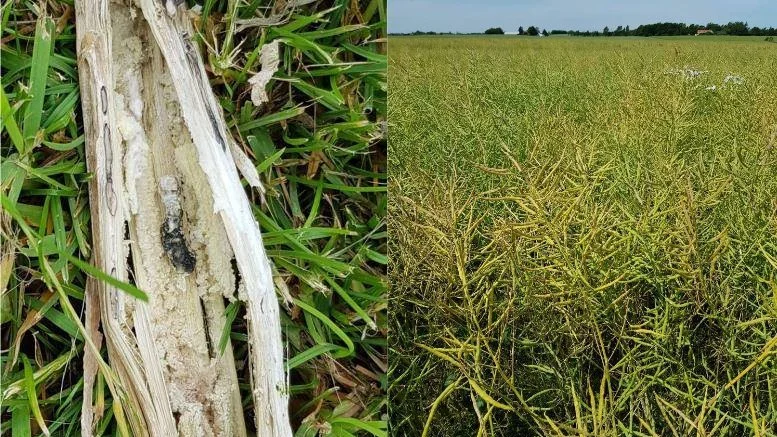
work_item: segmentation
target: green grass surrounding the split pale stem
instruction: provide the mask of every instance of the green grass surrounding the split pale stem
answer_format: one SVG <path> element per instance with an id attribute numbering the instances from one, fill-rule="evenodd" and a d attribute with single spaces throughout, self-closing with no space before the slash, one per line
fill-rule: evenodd
<path id="1" fill-rule="evenodd" d="M 385 2 L 282 3 L 206 1 L 198 38 L 232 134 L 267 190 L 253 206 L 276 283 L 294 301 L 283 314 L 293 426 L 305 436 L 385 435 Z M 273 40 L 280 69 L 256 108 L 248 80 Z M 4 4 L 1 50 L 0 430 L 77 435 L 94 272 L 79 261 L 91 255 L 90 175 L 72 1 Z M 250 411 L 244 310 L 233 303 L 227 313 Z M 119 435 L 106 378 L 94 393 L 98 430 Z"/>

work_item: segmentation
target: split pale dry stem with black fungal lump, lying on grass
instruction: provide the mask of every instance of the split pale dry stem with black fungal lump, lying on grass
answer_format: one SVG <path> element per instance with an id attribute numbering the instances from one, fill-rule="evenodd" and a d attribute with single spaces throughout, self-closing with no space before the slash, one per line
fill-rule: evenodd
<path id="1" fill-rule="evenodd" d="M 224 299 L 240 298 L 257 435 L 291 436 L 272 270 L 235 164 L 246 158 L 231 147 L 184 8 L 137 3 L 142 16 L 118 1 L 76 2 L 94 263 L 149 294 L 137 302 L 95 281 L 129 425 L 135 435 L 246 435 L 231 345 L 221 355 L 210 343 Z"/>

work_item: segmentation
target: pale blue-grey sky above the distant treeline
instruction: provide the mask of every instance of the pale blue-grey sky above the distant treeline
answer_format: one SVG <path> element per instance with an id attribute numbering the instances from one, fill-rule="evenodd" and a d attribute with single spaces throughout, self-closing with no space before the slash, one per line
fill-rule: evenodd
<path id="1" fill-rule="evenodd" d="M 687 24 L 746 21 L 751 27 L 777 26 L 777 0 L 388 0 L 391 33 L 416 30 L 514 32 L 540 29 L 601 30 L 663 21 Z"/>

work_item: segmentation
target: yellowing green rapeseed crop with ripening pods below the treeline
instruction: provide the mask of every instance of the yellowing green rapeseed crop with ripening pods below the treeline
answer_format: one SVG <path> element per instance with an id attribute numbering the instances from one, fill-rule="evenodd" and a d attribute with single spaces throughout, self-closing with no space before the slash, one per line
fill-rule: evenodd
<path id="1" fill-rule="evenodd" d="M 389 46 L 393 435 L 775 435 L 777 45 Z"/>

